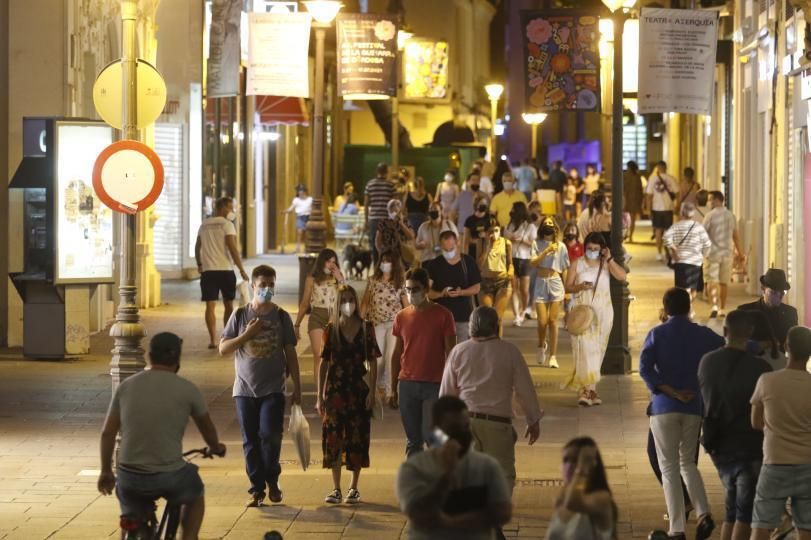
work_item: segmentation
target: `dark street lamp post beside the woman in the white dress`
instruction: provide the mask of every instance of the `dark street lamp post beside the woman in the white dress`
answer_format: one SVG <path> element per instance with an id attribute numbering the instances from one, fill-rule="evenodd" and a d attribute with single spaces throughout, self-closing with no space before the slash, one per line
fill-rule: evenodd
<path id="1" fill-rule="evenodd" d="M 603 0 L 611 10 L 614 22 L 614 82 L 611 115 L 611 256 L 625 266 L 622 246 L 622 32 L 625 21 L 636 0 Z M 602 372 L 618 375 L 631 371 L 631 352 L 628 348 L 628 282 L 611 277 L 611 304 L 614 307 L 614 326 L 608 338 Z"/>

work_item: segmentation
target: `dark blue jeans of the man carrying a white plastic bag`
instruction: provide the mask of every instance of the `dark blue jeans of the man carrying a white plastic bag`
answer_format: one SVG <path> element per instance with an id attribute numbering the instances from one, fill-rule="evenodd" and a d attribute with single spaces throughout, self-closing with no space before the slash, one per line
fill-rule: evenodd
<path id="1" fill-rule="evenodd" d="M 237 420 L 242 430 L 242 450 L 245 470 L 251 481 L 249 493 L 265 493 L 265 485 L 276 487 L 282 466 L 284 432 L 284 394 L 274 393 L 260 398 L 236 396 Z"/>

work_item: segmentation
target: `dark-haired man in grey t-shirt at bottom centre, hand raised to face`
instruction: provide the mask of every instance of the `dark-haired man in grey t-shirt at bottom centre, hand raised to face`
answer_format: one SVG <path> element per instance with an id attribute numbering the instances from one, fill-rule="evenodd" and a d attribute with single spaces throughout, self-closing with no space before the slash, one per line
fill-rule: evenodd
<path id="1" fill-rule="evenodd" d="M 465 402 L 444 396 L 432 407 L 431 450 L 397 472 L 397 499 L 411 540 L 491 540 L 512 517 L 498 462 L 473 447 Z"/>

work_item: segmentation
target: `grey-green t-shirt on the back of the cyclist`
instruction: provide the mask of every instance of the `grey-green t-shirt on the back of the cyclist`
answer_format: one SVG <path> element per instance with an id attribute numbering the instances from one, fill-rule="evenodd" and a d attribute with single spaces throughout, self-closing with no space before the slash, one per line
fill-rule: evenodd
<path id="1" fill-rule="evenodd" d="M 182 468 L 189 416 L 207 411 L 200 390 L 171 371 L 149 369 L 129 377 L 116 389 L 108 413 L 121 419 L 119 466 L 143 473 Z"/>

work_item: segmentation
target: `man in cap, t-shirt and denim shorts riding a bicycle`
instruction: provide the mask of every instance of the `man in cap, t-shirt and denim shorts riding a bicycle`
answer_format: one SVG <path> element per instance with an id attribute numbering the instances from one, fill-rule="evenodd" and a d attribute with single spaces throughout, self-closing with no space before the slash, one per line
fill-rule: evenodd
<path id="1" fill-rule="evenodd" d="M 177 375 L 183 341 L 172 333 L 157 334 L 149 344 L 149 368 L 122 382 L 113 395 L 101 433 L 98 489 L 115 488 L 122 517 L 143 519 L 160 497 L 183 505 L 183 539 L 196 539 L 203 523 L 203 481 L 197 466 L 183 459 L 183 432 L 194 419 L 211 453 L 223 455 L 205 399 L 190 381 Z M 112 461 L 121 431 L 118 478 Z"/>

